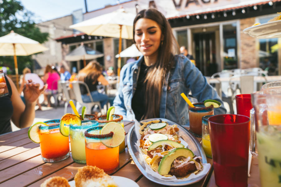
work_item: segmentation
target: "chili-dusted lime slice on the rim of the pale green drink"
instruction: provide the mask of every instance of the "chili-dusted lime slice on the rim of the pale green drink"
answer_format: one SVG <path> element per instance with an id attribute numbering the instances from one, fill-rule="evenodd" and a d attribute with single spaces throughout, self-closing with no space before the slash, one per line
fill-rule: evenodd
<path id="1" fill-rule="evenodd" d="M 76 116 L 75 114 L 65 114 L 62 116 L 61 123 L 60 123 L 60 132 L 63 136 L 69 135 L 69 126 L 70 125 L 81 125 L 80 117 Z"/>

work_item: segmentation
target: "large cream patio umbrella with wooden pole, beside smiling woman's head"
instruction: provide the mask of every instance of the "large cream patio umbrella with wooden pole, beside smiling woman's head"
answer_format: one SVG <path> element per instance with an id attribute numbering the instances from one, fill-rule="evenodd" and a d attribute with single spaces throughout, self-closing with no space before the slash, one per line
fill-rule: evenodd
<path id="1" fill-rule="evenodd" d="M 119 52 L 122 49 L 122 38 L 133 38 L 133 22 L 136 15 L 127 13 L 123 8 L 71 25 L 70 28 L 82 31 L 87 35 L 119 38 Z M 121 57 L 118 58 L 117 75 L 120 75 Z"/>

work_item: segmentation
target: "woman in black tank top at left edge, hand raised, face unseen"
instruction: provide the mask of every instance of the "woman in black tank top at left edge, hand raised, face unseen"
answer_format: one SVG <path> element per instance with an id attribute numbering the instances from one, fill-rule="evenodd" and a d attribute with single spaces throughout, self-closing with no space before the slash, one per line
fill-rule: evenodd
<path id="1" fill-rule="evenodd" d="M 35 117 L 36 101 L 46 89 L 46 86 L 39 89 L 38 83 L 32 83 L 31 80 L 28 80 L 23 89 L 26 103 L 24 105 L 15 84 L 9 77 L 5 76 L 5 79 L 6 83 L 0 83 L 0 93 L 7 85 L 9 95 L 0 97 L 0 134 L 12 131 L 11 120 L 18 128 L 31 126 Z"/>

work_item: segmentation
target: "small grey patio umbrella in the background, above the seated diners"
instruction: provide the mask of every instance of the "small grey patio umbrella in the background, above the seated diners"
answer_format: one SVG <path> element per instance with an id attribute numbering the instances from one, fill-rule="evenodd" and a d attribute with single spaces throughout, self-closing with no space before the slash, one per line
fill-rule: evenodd
<path id="1" fill-rule="evenodd" d="M 86 60 L 96 59 L 104 56 L 101 52 L 93 50 L 90 47 L 86 47 L 81 43 L 81 46 L 72 50 L 65 56 L 65 60 L 67 61 L 78 61 L 83 60 L 84 67 L 86 66 Z"/>

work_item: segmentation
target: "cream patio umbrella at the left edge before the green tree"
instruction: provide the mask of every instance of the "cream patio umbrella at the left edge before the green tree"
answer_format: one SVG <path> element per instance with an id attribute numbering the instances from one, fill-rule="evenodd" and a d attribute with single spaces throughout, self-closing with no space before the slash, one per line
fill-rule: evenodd
<path id="1" fill-rule="evenodd" d="M 19 89 L 17 56 L 28 56 L 45 50 L 48 50 L 48 48 L 41 45 L 38 41 L 21 36 L 14 31 L 0 37 L 0 56 L 14 56 L 17 89 Z"/>

